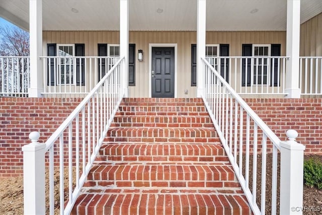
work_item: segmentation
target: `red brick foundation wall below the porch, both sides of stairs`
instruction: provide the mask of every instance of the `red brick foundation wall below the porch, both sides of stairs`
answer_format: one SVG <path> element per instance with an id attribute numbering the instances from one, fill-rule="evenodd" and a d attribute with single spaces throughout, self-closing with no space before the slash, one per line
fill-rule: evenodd
<path id="1" fill-rule="evenodd" d="M 81 102 L 79 98 L 0 98 L 0 178 L 23 173 L 22 146 L 31 131 L 44 142 Z M 285 132 L 299 132 L 305 153 L 322 154 L 322 99 L 246 99 L 282 139 Z"/>

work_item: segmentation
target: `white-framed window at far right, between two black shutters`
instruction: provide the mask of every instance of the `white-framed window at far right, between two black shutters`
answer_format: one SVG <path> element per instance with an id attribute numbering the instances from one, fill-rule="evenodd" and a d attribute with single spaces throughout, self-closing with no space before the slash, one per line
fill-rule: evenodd
<path id="1" fill-rule="evenodd" d="M 271 45 L 253 45 L 253 84 L 254 85 L 267 85 L 268 84 L 268 68 L 271 53 Z M 261 58 L 263 57 L 263 58 Z"/>

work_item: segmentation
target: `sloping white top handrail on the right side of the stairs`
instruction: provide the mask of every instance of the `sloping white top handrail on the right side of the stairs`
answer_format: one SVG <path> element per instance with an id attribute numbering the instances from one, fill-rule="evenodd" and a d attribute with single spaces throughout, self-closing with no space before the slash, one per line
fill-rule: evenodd
<path id="1" fill-rule="evenodd" d="M 236 99 L 236 101 L 246 110 L 253 118 L 253 120 L 260 126 L 262 130 L 267 132 L 267 136 L 273 140 L 275 146 L 280 149 L 280 142 L 281 140 L 276 136 L 276 134 L 266 125 L 266 123 L 252 110 L 252 108 L 241 98 L 235 91 L 230 87 L 230 85 L 218 74 L 218 72 L 213 68 L 210 63 L 202 58 L 203 62 L 211 69 L 211 71 L 215 74 L 216 78 L 224 85 L 229 93 Z"/>

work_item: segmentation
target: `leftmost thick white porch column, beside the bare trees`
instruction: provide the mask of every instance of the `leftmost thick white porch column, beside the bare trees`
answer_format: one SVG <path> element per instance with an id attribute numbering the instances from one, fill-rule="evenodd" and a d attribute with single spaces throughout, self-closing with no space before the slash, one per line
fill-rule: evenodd
<path id="1" fill-rule="evenodd" d="M 42 73 L 42 1 L 29 1 L 30 88 L 29 97 L 41 97 L 44 92 Z"/>

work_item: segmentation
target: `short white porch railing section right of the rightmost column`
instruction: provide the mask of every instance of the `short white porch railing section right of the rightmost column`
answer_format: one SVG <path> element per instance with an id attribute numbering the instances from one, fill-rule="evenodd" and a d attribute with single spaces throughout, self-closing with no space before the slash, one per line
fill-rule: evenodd
<path id="1" fill-rule="evenodd" d="M 301 95 L 322 95 L 322 57 L 300 57 Z"/>

